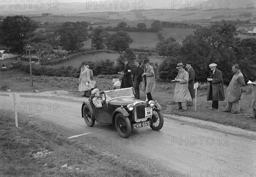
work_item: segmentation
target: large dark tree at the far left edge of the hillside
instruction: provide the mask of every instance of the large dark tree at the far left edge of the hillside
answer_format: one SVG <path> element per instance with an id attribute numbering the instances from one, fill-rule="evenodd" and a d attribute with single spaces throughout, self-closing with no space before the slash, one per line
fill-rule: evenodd
<path id="1" fill-rule="evenodd" d="M 29 17 L 8 16 L 3 19 L 1 26 L 3 44 L 10 48 L 11 52 L 22 52 L 24 40 L 28 39 L 29 34 L 36 28 L 36 23 Z"/>

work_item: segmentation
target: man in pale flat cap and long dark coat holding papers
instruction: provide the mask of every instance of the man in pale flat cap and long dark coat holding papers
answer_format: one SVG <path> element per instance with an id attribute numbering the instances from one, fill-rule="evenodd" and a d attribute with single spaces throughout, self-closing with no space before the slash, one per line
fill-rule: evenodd
<path id="1" fill-rule="evenodd" d="M 207 78 L 207 81 L 210 83 L 207 93 L 207 101 L 212 100 L 212 110 L 218 109 L 218 101 L 225 100 L 222 73 L 216 66 L 215 63 L 209 65 L 211 73 L 210 78 Z"/>

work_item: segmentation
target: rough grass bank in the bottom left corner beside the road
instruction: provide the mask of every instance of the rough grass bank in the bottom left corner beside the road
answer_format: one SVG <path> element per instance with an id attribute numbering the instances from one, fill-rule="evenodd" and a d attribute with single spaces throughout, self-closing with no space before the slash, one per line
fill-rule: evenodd
<path id="1" fill-rule="evenodd" d="M 19 126 L 22 129 L 15 127 L 12 112 L 1 112 L 1 176 L 154 176 L 138 165 L 97 152 L 86 142 L 64 138 L 54 125 L 20 117 Z"/>

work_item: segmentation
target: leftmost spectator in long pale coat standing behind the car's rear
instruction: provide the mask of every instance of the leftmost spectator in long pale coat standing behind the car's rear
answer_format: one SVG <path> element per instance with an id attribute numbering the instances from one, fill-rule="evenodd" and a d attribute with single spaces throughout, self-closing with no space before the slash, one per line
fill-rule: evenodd
<path id="1" fill-rule="evenodd" d="M 96 81 L 90 80 L 90 70 L 83 65 L 79 76 L 79 91 L 84 91 L 86 97 L 90 96 L 90 90 L 94 88 Z"/>

